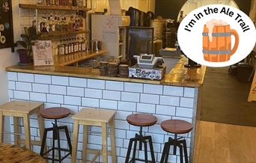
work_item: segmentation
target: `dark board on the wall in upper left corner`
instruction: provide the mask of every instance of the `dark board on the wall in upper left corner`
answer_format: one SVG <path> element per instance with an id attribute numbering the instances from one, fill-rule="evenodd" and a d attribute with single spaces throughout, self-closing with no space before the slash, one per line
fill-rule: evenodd
<path id="1" fill-rule="evenodd" d="M 13 47 L 13 11 L 11 0 L 0 0 L 0 49 Z"/>

